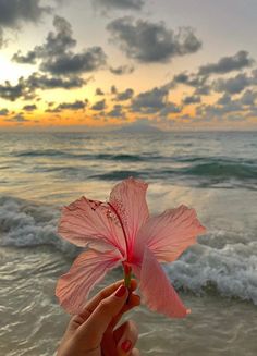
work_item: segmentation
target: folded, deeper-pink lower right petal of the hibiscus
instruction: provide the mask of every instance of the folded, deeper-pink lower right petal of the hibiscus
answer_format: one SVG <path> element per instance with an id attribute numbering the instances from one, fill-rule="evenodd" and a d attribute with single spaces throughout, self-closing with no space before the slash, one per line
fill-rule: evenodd
<path id="1" fill-rule="evenodd" d="M 143 300 L 154 311 L 171 318 L 183 318 L 189 312 L 181 302 L 160 263 L 147 247 L 140 268 L 139 289 Z"/>

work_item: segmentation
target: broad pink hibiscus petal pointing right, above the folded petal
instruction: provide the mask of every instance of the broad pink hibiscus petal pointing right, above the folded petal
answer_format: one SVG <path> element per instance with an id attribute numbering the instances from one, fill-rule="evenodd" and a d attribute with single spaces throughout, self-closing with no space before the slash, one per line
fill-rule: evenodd
<path id="1" fill-rule="evenodd" d="M 194 209 L 182 205 L 167 210 L 150 218 L 140 229 L 134 247 L 134 259 L 142 261 L 147 245 L 158 261 L 174 261 L 205 231 Z"/>

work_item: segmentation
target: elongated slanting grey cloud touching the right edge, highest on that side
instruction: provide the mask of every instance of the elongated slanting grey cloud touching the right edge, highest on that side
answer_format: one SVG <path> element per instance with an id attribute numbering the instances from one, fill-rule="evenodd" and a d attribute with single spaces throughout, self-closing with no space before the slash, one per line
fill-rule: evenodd
<path id="1" fill-rule="evenodd" d="M 249 53 L 242 50 L 232 57 L 222 57 L 217 63 L 201 65 L 198 73 L 200 75 L 225 74 L 249 67 L 253 63 L 254 60 L 249 58 Z"/>

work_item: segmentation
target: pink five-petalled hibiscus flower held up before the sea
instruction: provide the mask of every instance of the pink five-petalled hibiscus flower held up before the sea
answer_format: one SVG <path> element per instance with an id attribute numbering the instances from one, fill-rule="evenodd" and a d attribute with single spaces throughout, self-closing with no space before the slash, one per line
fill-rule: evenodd
<path id="1" fill-rule="evenodd" d="M 130 177 L 114 186 L 109 202 L 82 197 L 63 208 L 59 234 L 87 247 L 57 284 L 66 311 L 79 314 L 94 285 L 122 263 L 126 284 L 132 270 L 151 310 L 173 318 L 188 314 L 159 262 L 174 261 L 205 228 L 185 206 L 149 217 L 147 186 Z"/>

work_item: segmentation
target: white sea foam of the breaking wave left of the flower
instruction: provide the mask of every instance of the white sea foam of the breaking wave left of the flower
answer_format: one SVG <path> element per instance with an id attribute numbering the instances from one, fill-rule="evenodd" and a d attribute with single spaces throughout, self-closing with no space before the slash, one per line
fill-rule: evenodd
<path id="1" fill-rule="evenodd" d="M 75 256 L 77 248 L 57 235 L 60 211 L 14 197 L 0 198 L 0 245 L 30 247 L 52 245 Z"/>

